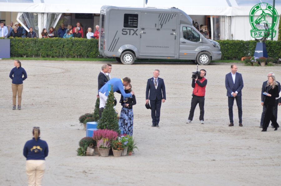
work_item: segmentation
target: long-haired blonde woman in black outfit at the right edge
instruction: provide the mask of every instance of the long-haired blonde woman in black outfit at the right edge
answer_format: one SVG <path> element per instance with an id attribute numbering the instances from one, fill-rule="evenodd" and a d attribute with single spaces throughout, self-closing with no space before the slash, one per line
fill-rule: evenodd
<path id="1" fill-rule="evenodd" d="M 266 92 L 264 93 L 264 106 L 265 109 L 265 117 L 263 123 L 263 130 L 262 132 L 267 131 L 267 127 L 269 126 L 269 122 L 271 120 L 274 131 L 276 131 L 279 127 L 276 118 L 273 115 L 273 107 L 275 105 L 275 98 L 278 98 L 279 91 L 278 91 L 278 83 L 276 82 L 275 76 L 270 76 L 266 85 Z"/>

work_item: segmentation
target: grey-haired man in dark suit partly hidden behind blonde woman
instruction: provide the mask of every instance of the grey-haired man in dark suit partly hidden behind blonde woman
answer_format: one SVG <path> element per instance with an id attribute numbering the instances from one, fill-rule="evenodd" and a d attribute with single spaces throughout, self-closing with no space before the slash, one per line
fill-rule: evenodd
<path id="1" fill-rule="evenodd" d="M 275 74 L 273 72 L 269 72 L 267 74 L 267 78 L 269 79 L 269 77 L 272 76 L 272 75 L 274 76 Z M 261 116 L 261 119 L 260 119 L 260 126 L 259 126 L 259 128 L 263 128 L 263 123 L 264 123 L 264 116 L 265 116 L 265 109 L 266 109 L 266 107 L 264 106 L 264 98 L 265 98 L 265 96 L 264 96 L 263 93 L 264 92 L 268 92 L 267 91 L 268 87 L 266 86 L 267 82 L 268 81 L 265 81 L 263 83 L 262 92 L 261 92 L 261 105 L 263 106 L 263 112 L 262 112 L 262 116 Z M 276 81 L 276 82 L 278 83 L 278 92 L 280 92 L 280 89 L 281 89 L 280 83 L 278 81 Z M 277 109 L 278 109 L 278 106 L 280 106 L 280 105 L 281 105 L 281 98 L 276 100 L 276 104 L 273 107 L 273 115 L 276 118 L 276 120 L 277 120 Z M 272 123 L 271 123 L 271 126 L 272 126 L 272 128 L 274 128 Z"/>

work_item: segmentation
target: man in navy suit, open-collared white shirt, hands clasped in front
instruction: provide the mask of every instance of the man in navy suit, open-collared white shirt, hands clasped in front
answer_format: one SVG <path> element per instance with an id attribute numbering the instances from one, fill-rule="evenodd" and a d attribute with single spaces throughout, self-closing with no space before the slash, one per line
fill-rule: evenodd
<path id="1" fill-rule="evenodd" d="M 229 126 L 234 126 L 233 124 L 233 104 L 234 99 L 238 107 L 238 117 L 239 126 L 242 125 L 242 88 L 244 87 L 242 75 L 237 72 L 237 66 L 235 64 L 231 65 L 231 72 L 225 75 L 225 87 L 227 89 L 228 97 L 228 114 L 230 124 Z"/>

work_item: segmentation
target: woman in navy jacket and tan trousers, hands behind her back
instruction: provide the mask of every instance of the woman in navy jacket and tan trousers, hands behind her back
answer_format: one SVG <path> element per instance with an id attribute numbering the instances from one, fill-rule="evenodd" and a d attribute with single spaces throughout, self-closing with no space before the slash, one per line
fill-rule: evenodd
<path id="1" fill-rule="evenodd" d="M 10 72 L 10 78 L 12 79 L 13 110 L 16 110 L 16 99 L 17 109 L 21 110 L 23 81 L 27 79 L 27 74 L 19 60 L 14 60 L 14 65 L 15 68 Z"/>

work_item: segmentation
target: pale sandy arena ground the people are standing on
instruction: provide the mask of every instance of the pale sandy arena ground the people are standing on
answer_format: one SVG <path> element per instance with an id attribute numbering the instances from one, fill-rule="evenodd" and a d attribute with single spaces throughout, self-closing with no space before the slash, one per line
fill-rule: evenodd
<path id="1" fill-rule="evenodd" d="M 134 137 L 139 151 L 133 156 L 80 157 L 78 141 L 86 136 L 78 117 L 93 112 L 97 76 L 106 62 L 22 61 L 22 110 L 12 110 L 12 60 L 0 61 L 0 185 L 27 185 L 22 149 L 39 126 L 49 145 L 43 185 L 280 185 L 281 128 L 261 132 L 260 92 L 268 72 L 281 82 L 281 67 L 238 64 L 244 80 L 243 127 L 229 127 L 225 74 L 230 64 L 200 66 L 207 71 L 205 125 L 186 124 L 191 103 L 191 72 L 195 64 L 112 63 L 111 77 L 130 77 L 136 93 Z M 162 103 L 160 127 L 151 127 L 145 87 L 160 69 L 167 100 Z M 116 98 L 120 95 L 115 93 Z M 279 107 L 278 122 L 281 124 Z M 120 111 L 121 106 L 117 109 Z"/>

